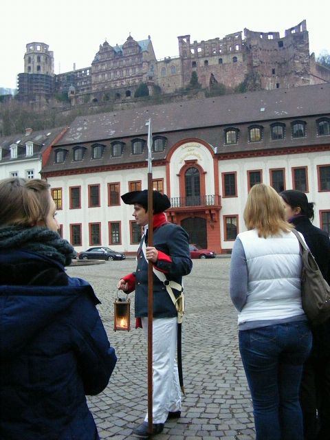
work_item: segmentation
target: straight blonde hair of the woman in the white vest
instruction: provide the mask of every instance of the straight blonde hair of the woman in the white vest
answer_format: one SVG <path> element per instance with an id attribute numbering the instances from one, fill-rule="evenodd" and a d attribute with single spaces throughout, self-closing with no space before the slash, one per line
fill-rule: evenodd
<path id="1" fill-rule="evenodd" d="M 279 232 L 289 232 L 292 225 L 285 220 L 283 202 L 272 186 L 252 186 L 244 210 L 244 221 L 248 230 L 256 229 L 265 239 Z"/>

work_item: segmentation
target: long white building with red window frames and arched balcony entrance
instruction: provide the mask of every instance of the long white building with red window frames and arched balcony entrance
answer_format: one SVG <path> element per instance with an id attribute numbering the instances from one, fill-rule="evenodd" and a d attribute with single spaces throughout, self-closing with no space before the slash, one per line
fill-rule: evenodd
<path id="1" fill-rule="evenodd" d="M 314 201 L 330 233 L 330 85 L 275 89 L 77 118 L 52 146 L 41 175 L 52 186 L 62 233 L 75 248 L 135 252 L 140 228 L 120 195 L 147 187 L 146 122 L 153 128 L 153 186 L 168 219 L 197 243 L 230 252 L 259 182 Z"/>

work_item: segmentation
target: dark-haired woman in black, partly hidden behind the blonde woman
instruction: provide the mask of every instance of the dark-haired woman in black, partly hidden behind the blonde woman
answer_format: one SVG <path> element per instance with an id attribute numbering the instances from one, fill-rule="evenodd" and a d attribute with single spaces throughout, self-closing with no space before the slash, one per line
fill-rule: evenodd
<path id="1" fill-rule="evenodd" d="M 325 280 L 330 283 L 330 240 L 327 232 L 311 224 L 314 203 L 305 192 L 281 192 L 286 217 L 303 234 Z M 313 331 L 313 351 L 304 366 L 300 388 L 305 440 L 330 439 L 330 320 Z"/>

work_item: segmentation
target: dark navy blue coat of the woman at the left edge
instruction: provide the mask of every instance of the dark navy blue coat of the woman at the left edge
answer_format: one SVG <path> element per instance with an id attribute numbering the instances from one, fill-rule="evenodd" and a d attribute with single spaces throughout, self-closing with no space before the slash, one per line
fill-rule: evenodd
<path id="1" fill-rule="evenodd" d="M 0 252 L 0 439 L 99 439 L 85 395 L 116 357 L 93 289 L 28 252 Z"/>

